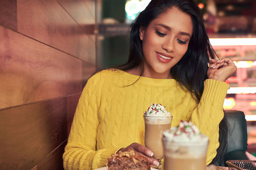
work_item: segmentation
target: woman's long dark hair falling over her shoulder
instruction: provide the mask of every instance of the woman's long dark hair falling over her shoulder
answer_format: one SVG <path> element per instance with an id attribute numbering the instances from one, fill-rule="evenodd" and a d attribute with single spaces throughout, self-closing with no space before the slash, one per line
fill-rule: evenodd
<path id="1" fill-rule="evenodd" d="M 187 52 L 172 67 L 170 72 L 181 87 L 195 94 L 195 99 L 199 103 L 204 91 L 204 81 L 207 79 L 209 58 L 214 59 L 216 53 L 209 43 L 200 10 L 193 0 L 152 0 L 131 25 L 129 59 L 126 64 L 118 68 L 125 71 L 140 66 L 140 75 L 143 74 L 143 50 L 140 39 L 140 27 L 147 28 L 152 20 L 172 7 L 187 13 L 191 17 L 193 34 L 189 41 Z M 220 123 L 220 129 L 223 129 L 223 127 L 226 127 L 225 119 Z M 225 134 L 220 135 L 220 140 L 223 139 L 225 140 Z M 223 159 L 223 154 L 225 153 L 223 147 L 226 147 L 225 143 L 218 148 L 216 158 L 213 162 L 219 162 Z"/>

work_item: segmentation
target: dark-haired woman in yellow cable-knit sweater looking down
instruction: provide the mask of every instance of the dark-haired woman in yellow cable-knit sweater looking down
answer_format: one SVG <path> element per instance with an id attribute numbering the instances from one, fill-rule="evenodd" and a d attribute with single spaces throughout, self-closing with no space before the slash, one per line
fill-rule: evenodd
<path id="1" fill-rule="evenodd" d="M 211 59 L 211 60 L 210 60 Z M 131 29 L 129 60 L 94 74 L 77 105 L 63 154 L 65 169 L 96 169 L 118 150 L 144 153 L 143 112 L 161 103 L 172 126 L 191 121 L 209 137 L 207 164 L 216 157 L 228 85 L 229 58 L 214 59 L 193 0 L 152 0 Z"/>

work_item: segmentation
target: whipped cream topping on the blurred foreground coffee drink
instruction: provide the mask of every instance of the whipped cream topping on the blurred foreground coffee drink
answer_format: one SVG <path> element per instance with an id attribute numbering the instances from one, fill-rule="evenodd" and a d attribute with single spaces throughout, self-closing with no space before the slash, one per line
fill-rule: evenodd
<path id="1" fill-rule="evenodd" d="M 180 121 L 178 127 L 172 127 L 163 132 L 163 139 L 173 142 L 207 141 L 204 134 L 192 122 Z"/>

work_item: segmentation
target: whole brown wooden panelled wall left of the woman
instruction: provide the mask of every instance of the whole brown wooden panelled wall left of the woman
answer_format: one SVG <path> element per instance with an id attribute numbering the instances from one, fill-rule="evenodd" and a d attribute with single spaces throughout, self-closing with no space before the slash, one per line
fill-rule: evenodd
<path id="1" fill-rule="evenodd" d="M 95 27 L 95 0 L 0 0 L 0 169 L 63 169 Z"/>

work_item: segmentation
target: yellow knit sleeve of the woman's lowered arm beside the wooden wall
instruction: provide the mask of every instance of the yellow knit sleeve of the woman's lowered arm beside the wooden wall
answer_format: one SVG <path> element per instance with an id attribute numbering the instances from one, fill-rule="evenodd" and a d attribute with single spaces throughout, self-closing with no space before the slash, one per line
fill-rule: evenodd
<path id="1" fill-rule="evenodd" d="M 100 78 L 96 74 L 83 89 L 63 153 L 63 167 L 67 169 L 96 169 L 106 166 L 108 157 L 118 148 L 96 150 Z"/>

